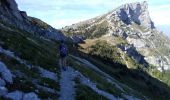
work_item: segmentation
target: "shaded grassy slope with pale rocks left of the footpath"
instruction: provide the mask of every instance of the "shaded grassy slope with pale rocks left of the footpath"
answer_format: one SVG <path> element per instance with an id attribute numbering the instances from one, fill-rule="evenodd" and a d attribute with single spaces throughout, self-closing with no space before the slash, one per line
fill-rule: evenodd
<path id="1" fill-rule="evenodd" d="M 5 98 L 31 95 L 36 99 L 37 93 L 41 98 L 57 98 L 57 44 L 3 23 L 1 26 L 0 96 L 8 93 Z"/>

